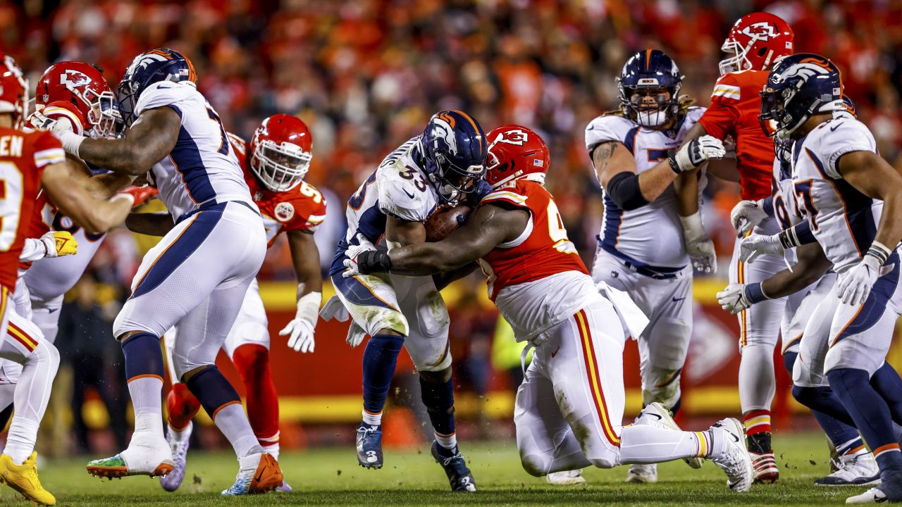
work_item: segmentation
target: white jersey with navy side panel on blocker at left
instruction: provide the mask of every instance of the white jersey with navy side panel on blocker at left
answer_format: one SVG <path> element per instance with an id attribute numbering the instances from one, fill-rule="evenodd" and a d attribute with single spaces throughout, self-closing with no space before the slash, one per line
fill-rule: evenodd
<path id="1" fill-rule="evenodd" d="M 134 114 L 166 106 L 181 118 L 179 140 L 154 164 L 151 176 L 173 219 L 211 201 L 242 201 L 256 210 L 226 130 L 207 99 L 191 85 L 161 81 L 142 92 Z"/>

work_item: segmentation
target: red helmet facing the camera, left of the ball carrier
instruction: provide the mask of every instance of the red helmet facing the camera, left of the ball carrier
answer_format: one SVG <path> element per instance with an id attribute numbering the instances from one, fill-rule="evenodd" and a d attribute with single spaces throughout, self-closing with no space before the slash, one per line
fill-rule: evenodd
<path id="1" fill-rule="evenodd" d="M 272 115 L 253 133 L 251 170 L 274 192 L 297 187 L 310 168 L 313 139 L 297 116 Z"/>

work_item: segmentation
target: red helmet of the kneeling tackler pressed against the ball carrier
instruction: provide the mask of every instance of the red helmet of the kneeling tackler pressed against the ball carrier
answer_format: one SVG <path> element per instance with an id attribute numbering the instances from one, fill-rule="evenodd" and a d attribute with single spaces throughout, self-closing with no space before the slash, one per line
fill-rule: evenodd
<path id="1" fill-rule="evenodd" d="M 528 128 L 520 125 L 503 125 L 490 132 L 489 155 L 485 161 L 485 180 L 492 189 L 517 178 L 545 182 L 545 173 L 551 165 L 548 144 Z"/>

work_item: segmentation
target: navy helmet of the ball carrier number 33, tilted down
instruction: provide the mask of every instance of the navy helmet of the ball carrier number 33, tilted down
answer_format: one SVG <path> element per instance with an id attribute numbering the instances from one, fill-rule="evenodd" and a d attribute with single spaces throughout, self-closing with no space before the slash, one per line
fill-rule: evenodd
<path id="1" fill-rule="evenodd" d="M 419 136 L 424 172 L 438 195 L 456 200 L 485 175 L 488 143 L 483 127 L 463 111 L 439 111 Z"/>

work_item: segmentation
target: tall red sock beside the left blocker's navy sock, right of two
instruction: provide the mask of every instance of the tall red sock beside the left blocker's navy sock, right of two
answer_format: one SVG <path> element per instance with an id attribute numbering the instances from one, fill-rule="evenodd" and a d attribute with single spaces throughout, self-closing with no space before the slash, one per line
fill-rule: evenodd
<path id="1" fill-rule="evenodd" d="M 253 434 L 262 446 L 272 445 L 273 438 L 279 436 L 279 395 L 272 383 L 270 351 L 259 345 L 239 346 L 232 354 L 232 362 L 244 382 L 247 417 Z"/>

